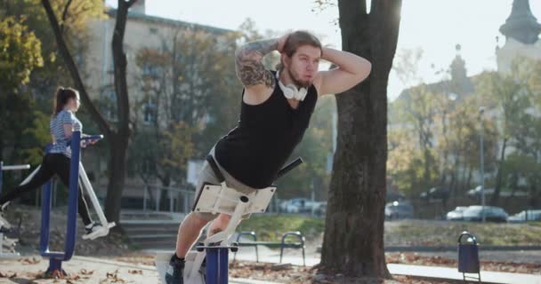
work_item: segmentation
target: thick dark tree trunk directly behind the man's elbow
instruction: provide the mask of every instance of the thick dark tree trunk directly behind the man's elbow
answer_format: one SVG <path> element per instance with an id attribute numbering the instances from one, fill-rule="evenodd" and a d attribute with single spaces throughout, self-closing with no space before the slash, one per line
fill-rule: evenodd
<path id="1" fill-rule="evenodd" d="M 336 96 L 338 137 L 319 269 L 389 278 L 384 255 L 387 82 L 400 0 L 339 0 L 343 50 L 372 62 L 369 78 Z"/>

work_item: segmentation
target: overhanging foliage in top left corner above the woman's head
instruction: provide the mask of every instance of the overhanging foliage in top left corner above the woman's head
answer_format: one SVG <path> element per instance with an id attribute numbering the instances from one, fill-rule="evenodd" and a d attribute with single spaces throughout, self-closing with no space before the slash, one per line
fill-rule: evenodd
<path id="1" fill-rule="evenodd" d="M 52 9 L 62 28 L 62 35 L 69 49 L 77 59 L 77 64 L 83 64 L 85 49 L 89 36 L 88 21 L 104 18 L 104 3 L 101 0 L 52 0 Z M 69 4 L 68 9 L 66 5 Z M 63 59 L 57 53 L 57 43 L 52 28 L 47 19 L 41 0 L 4 0 L 0 11 L 15 19 L 25 19 L 28 30 L 36 35 L 41 46 L 41 58 L 44 65 L 36 69 L 30 76 L 28 89 L 38 101 L 36 107 L 44 113 L 51 111 L 52 93 L 58 85 L 70 86 L 71 78 Z"/>

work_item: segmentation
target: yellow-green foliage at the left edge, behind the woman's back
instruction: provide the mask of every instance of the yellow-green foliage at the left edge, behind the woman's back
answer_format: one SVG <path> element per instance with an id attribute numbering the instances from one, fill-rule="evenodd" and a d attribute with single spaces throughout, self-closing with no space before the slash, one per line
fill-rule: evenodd
<path id="1" fill-rule="evenodd" d="M 39 129 L 44 114 L 23 91 L 32 72 L 43 66 L 40 46 L 24 18 L 0 21 L 0 160 L 8 164 L 41 162 L 39 155 L 49 138 Z"/>

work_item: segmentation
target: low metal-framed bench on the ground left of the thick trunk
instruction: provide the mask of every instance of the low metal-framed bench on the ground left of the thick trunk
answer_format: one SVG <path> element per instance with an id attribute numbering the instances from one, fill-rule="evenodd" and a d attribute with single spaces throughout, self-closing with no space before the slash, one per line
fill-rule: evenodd
<path id="1" fill-rule="evenodd" d="M 240 241 L 242 236 L 249 236 L 253 241 Z M 287 241 L 289 239 L 296 238 L 295 241 Z M 303 250 L 303 265 L 306 266 L 306 260 L 304 255 L 304 236 L 301 232 L 287 232 L 282 235 L 282 241 L 257 241 L 257 235 L 251 232 L 241 232 L 237 235 L 238 247 L 254 247 L 255 248 L 255 262 L 259 262 L 259 253 L 257 251 L 258 246 L 266 246 L 268 248 L 280 248 L 280 264 L 282 263 L 282 256 L 284 255 L 284 248 L 295 248 Z M 233 261 L 237 257 L 237 252 L 233 255 Z"/>

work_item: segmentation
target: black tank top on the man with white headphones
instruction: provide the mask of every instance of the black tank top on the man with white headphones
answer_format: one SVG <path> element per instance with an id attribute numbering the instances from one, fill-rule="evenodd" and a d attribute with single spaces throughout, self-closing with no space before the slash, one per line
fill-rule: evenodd
<path id="1" fill-rule="evenodd" d="M 317 100 L 318 91 L 311 85 L 294 109 L 278 83 L 262 104 L 251 106 L 242 100 L 237 127 L 215 146 L 216 161 L 245 185 L 270 186 L 301 142 Z"/>

